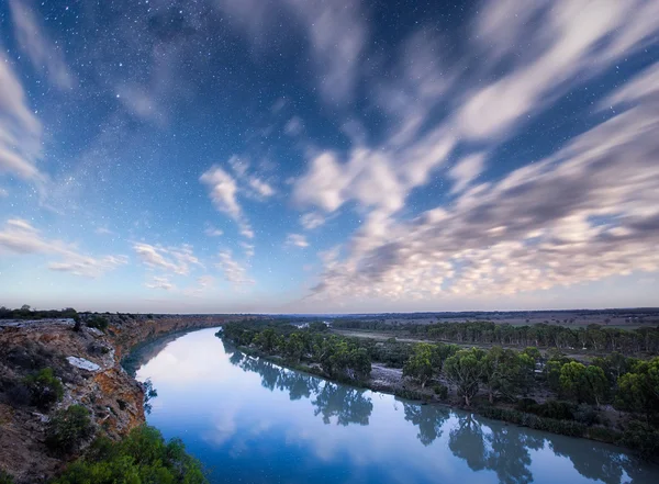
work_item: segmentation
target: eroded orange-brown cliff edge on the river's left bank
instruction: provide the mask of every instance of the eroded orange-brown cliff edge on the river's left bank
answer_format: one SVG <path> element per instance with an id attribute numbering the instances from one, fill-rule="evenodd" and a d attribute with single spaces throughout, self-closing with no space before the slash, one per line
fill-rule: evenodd
<path id="1" fill-rule="evenodd" d="M 142 385 L 121 367 L 133 347 L 242 318 L 103 317 L 109 323 L 105 331 L 85 323 L 75 330 L 72 320 L 0 324 L 0 463 L 16 483 L 46 482 L 77 457 L 57 457 L 45 444 L 49 416 L 59 408 L 83 405 L 98 431 L 113 439 L 145 423 Z M 64 384 L 64 397 L 48 410 L 32 405 L 24 386 L 26 376 L 44 368 L 52 368 Z"/>

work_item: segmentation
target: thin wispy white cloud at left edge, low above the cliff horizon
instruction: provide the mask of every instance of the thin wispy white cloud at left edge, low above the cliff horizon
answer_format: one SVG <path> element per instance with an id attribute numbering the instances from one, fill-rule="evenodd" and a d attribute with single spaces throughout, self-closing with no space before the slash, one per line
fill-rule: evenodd
<path id="1" fill-rule="evenodd" d="M 0 254 L 3 251 L 21 256 L 57 256 L 60 260 L 49 262 L 48 269 L 87 278 L 98 278 L 129 262 L 125 256 L 91 257 L 80 254 L 72 245 L 44 238 L 38 229 L 21 218 L 8 220 L 0 230 Z"/>

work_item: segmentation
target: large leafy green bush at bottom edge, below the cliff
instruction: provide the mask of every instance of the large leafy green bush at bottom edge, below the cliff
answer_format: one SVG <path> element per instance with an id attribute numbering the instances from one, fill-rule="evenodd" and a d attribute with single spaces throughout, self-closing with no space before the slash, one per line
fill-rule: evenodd
<path id="1" fill-rule="evenodd" d="M 165 442 L 153 427 L 134 429 L 115 443 L 107 437 L 97 439 L 88 455 L 64 472 L 53 484 L 206 484 L 200 463 L 183 443 Z"/>

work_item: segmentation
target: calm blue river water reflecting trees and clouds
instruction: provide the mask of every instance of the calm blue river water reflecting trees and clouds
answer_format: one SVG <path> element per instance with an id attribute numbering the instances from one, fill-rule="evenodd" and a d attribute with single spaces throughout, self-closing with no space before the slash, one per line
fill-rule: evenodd
<path id="1" fill-rule="evenodd" d="M 213 483 L 659 483 L 615 447 L 337 385 L 225 346 L 214 329 L 144 364 L 149 424 Z"/>

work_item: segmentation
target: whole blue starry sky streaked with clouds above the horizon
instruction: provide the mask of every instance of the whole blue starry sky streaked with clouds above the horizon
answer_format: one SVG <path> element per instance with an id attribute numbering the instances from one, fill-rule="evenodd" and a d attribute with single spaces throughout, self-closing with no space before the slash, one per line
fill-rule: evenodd
<path id="1" fill-rule="evenodd" d="M 657 288 L 657 1 L 0 1 L 0 305 L 659 306 Z"/>

